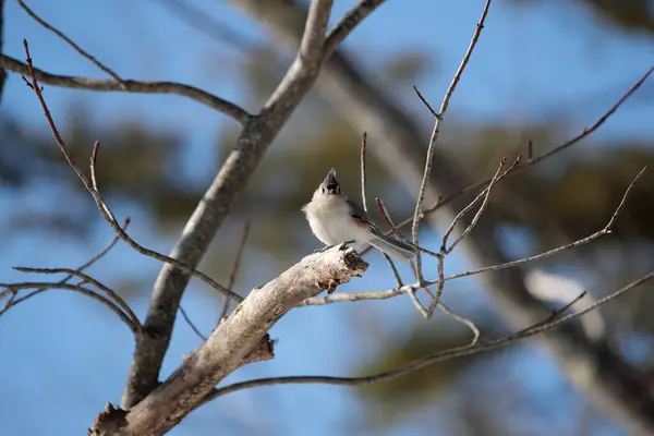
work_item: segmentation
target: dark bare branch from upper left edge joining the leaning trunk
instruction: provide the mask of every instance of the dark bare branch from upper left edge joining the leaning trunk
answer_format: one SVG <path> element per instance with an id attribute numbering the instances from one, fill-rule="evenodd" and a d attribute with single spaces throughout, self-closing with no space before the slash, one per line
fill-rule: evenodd
<path id="1" fill-rule="evenodd" d="M 14 73 L 32 75 L 29 66 L 16 59 L 5 55 L 0 55 L 0 68 L 4 68 Z M 74 77 L 68 75 L 58 75 L 47 73 L 43 70 L 32 68 L 34 76 L 41 83 L 63 86 L 74 89 L 87 89 L 97 92 L 123 92 L 123 93 L 140 93 L 140 94 L 173 94 L 187 97 L 192 100 L 208 106 L 218 112 L 234 119 L 240 124 L 244 125 L 250 119 L 250 113 L 240 106 L 231 101 L 227 101 L 218 96 L 215 96 L 206 90 L 194 86 L 184 85 L 174 82 L 144 82 L 124 80 L 117 82 L 114 80 L 99 80 L 89 77 Z"/>

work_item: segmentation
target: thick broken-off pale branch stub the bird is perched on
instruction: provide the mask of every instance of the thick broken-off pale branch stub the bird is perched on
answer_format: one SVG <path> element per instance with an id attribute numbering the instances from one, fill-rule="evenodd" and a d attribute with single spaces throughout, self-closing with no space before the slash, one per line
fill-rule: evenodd
<path id="1" fill-rule="evenodd" d="M 126 413 L 116 412 L 124 425 L 113 435 L 155 436 L 166 433 L 201 405 L 214 386 L 253 360 L 272 359 L 267 331 L 287 312 L 323 290 L 334 290 L 361 276 L 367 264 L 352 250 L 334 247 L 311 254 L 247 299 L 157 389 Z M 262 340 L 264 343 L 262 344 Z M 102 435 L 102 425 L 90 435 Z M 98 416 L 98 420 L 100 416 Z"/>

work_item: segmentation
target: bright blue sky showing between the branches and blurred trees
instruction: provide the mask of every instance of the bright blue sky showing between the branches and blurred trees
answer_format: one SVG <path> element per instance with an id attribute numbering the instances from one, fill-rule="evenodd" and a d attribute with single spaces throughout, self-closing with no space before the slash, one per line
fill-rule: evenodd
<path id="1" fill-rule="evenodd" d="M 5 3 L 5 53 L 23 59 L 22 39 L 27 38 L 38 68 L 61 74 L 104 77 L 33 22 L 15 2 Z M 194 1 L 194 4 L 201 3 Z M 250 40 L 266 38 L 266 32 L 240 11 L 221 2 L 213 3 L 211 16 Z M 354 1 L 335 3 L 332 21 Z M 577 132 L 594 121 L 652 65 L 651 39 L 617 35 L 597 23 L 582 5 L 562 7 L 561 3 L 541 1 L 519 7 L 497 1 L 494 4 L 479 48 L 452 99 L 453 116 L 522 125 L 549 117 L 554 110 L 569 120 L 571 131 Z M 247 101 L 233 66 L 233 59 L 241 55 L 231 46 L 217 44 L 180 23 L 155 0 L 69 0 L 65 7 L 60 2 L 32 0 L 28 4 L 123 77 L 178 81 L 234 101 Z M 417 85 L 429 100 L 438 101 L 468 47 L 482 5 L 482 0 L 391 0 L 351 35 L 346 47 L 365 53 L 360 57 L 364 63 L 366 57 L 372 62 L 404 50 L 432 53 L 438 74 Z M 653 86 L 647 84 L 642 95 L 651 96 Z M 215 171 L 202 165 L 203 152 L 221 129 L 232 123 L 197 102 L 175 96 L 98 94 L 47 86 L 46 97 L 56 119 L 60 120 L 71 104 L 83 101 L 98 122 L 136 118 L 155 126 L 174 125 L 186 134 L 185 159 L 190 171 L 195 168 Z M 598 135 L 651 138 L 654 136 L 651 123 L 654 105 L 650 101 L 641 97 L 627 104 Z M 419 101 L 413 104 L 420 105 Z M 255 107 L 247 109 L 256 110 Z M 15 74 L 10 74 L 0 110 L 34 129 L 46 129 L 36 99 Z M 48 186 L 35 189 L 47 192 Z M 15 194 L 0 190 L 0 207 L 9 210 L 25 204 Z M 114 209 L 119 216 L 135 217 L 131 234 L 137 241 L 162 252 L 170 250 L 173 241 L 161 240 L 149 232 L 146 218 L 140 218 L 138 210 L 128 210 L 121 205 Z M 308 228 L 306 232 L 308 234 Z M 0 281 L 21 278 L 10 269 L 13 265 L 81 264 L 110 239 L 111 232 L 105 225 L 99 225 L 92 240 L 84 243 L 52 234 L 22 234 L 15 239 L 15 246 L 0 252 Z M 251 255 L 259 256 L 265 263 L 270 254 Z M 125 268 L 154 280 L 159 266 L 119 246 L 93 272 L 112 284 L 112 271 L 125 271 Z M 384 265 L 375 259 L 371 268 L 380 272 L 367 274 L 339 291 L 388 288 L 390 276 Z M 465 269 L 465 261 L 458 256 L 450 268 L 452 272 Z M 257 275 L 241 280 L 241 289 L 249 289 L 275 274 L 264 265 Z M 468 283 L 469 289 L 449 300 L 463 310 L 463 300 L 483 300 L 483 290 L 476 282 L 469 280 Z M 219 301 L 201 289 L 197 283 L 190 287 L 184 304 L 208 331 L 217 316 Z M 138 315 L 145 314 L 146 304 L 146 299 L 135 302 Z M 363 311 L 365 316 L 361 314 Z M 404 299 L 293 311 L 271 331 L 272 337 L 280 340 L 276 360 L 245 367 L 230 376 L 229 382 L 271 375 L 350 374 L 358 363 L 372 359 L 379 347 L 366 342 L 365 335 L 353 331 L 352 319 L 362 316 L 377 319 L 380 336 L 401 337 L 407 331 L 398 325 L 402 320 L 409 324 L 419 315 Z M 385 322 L 388 318 L 393 319 L 391 325 Z M 181 355 L 197 344 L 191 330 L 178 324 L 164 374 L 169 374 Z M 76 294 L 52 291 L 9 312 L 0 319 L 3 368 L 0 372 L 0 403 L 3 404 L 0 422 L 7 434 L 83 433 L 106 401 L 119 402 L 132 350 L 128 329 Z M 577 398 L 561 379 L 554 361 L 542 351 L 525 348 L 510 367 L 517 377 L 531 383 L 533 398 L 542 395 L 569 401 Z M 558 389 L 552 389 L 553 384 Z M 356 397 L 342 387 L 264 388 L 234 393 L 206 405 L 170 434 L 213 434 L 217 425 L 227 425 L 233 434 L 243 435 L 302 435 L 310 429 L 316 435 L 348 434 L 342 426 L 361 412 Z M 251 413 L 257 413 L 261 422 L 245 419 Z M 412 426 L 393 432 L 422 434 Z"/>

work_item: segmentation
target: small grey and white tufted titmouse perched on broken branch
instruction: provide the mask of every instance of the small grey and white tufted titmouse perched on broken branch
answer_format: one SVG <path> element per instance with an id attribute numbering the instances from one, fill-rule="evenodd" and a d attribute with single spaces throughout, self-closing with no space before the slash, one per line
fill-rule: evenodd
<path id="1" fill-rule="evenodd" d="M 367 214 L 344 196 L 331 169 L 302 210 L 311 230 L 324 244 L 334 246 L 353 243 L 361 252 L 368 244 L 402 262 L 415 256 L 415 249 L 404 242 L 384 235 L 372 223 Z"/>

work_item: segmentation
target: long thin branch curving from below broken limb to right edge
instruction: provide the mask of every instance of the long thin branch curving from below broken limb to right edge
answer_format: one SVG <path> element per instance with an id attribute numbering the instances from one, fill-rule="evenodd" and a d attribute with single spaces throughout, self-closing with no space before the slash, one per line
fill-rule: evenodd
<path id="1" fill-rule="evenodd" d="M 576 312 L 573 314 L 567 315 L 567 316 L 562 316 L 550 323 L 547 323 L 544 325 L 538 323 L 538 324 L 531 326 L 524 330 L 521 330 L 513 335 L 506 336 L 500 339 L 496 339 L 496 340 L 492 340 L 492 341 L 483 341 L 483 342 L 479 342 L 474 346 L 464 346 L 464 347 L 452 348 L 452 349 L 449 349 L 446 351 L 429 354 L 429 355 L 426 355 L 419 360 L 415 360 L 407 365 L 397 367 L 395 370 L 386 371 L 386 372 L 378 373 L 378 374 L 373 374 L 373 375 L 365 376 L 365 377 L 291 376 L 291 377 L 259 378 L 259 379 L 254 379 L 254 380 L 235 383 L 232 385 L 225 386 L 222 388 L 215 389 L 214 391 L 211 391 L 211 393 L 209 393 L 206 397 L 204 402 L 206 403 L 218 397 L 221 397 L 221 396 L 230 393 L 230 392 L 234 392 L 237 390 L 247 389 L 247 388 L 253 388 L 253 387 L 261 387 L 261 386 L 308 384 L 308 383 L 322 383 L 322 384 L 341 385 L 341 386 L 361 386 L 361 385 L 371 385 L 374 383 L 389 380 L 392 378 L 400 377 L 404 374 L 412 373 L 412 372 L 423 368 L 425 366 L 432 365 L 436 362 L 443 362 L 443 361 L 450 360 L 450 359 L 462 358 L 462 356 L 468 356 L 468 355 L 472 355 L 472 354 L 479 354 L 479 353 L 486 352 L 486 351 L 496 350 L 500 347 L 506 347 L 512 342 L 516 342 L 519 339 L 528 338 L 528 337 L 550 330 L 550 329 L 556 328 L 565 323 L 568 323 L 569 320 L 580 317 L 580 316 L 600 307 L 601 305 L 604 305 L 604 304 L 617 299 L 618 296 L 622 295 L 623 293 L 630 291 L 631 289 L 634 289 L 635 287 L 641 286 L 642 283 L 644 283 L 653 278 L 654 278 L 654 272 L 650 272 L 650 274 L 639 278 L 638 280 L 634 280 L 631 283 L 618 289 L 617 291 L 610 293 L 609 295 L 598 300 L 597 302 L 588 306 L 586 308 Z"/>

